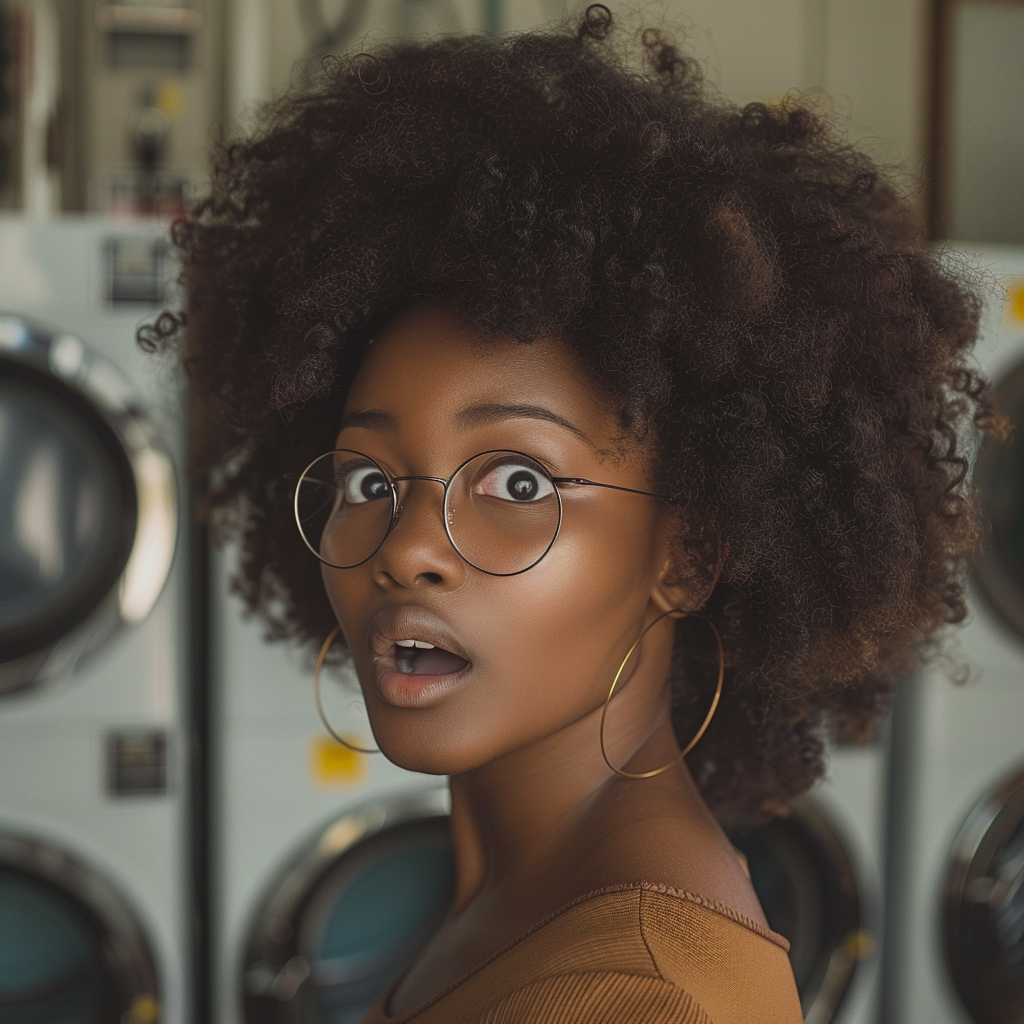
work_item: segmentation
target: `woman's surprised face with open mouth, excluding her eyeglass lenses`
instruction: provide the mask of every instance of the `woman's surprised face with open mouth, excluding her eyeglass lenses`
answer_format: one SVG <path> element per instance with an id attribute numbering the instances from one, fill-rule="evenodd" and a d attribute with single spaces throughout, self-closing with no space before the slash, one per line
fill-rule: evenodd
<path id="1" fill-rule="evenodd" d="M 511 449 L 552 476 L 652 489 L 644 453 L 623 454 L 616 433 L 559 342 L 485 341 L 450 308 L 418 304 L 370 347 L 337 446 L 395 477 L 447 479 L 480 452 Z M 527 571 L 498 577 L 453 548 L 440 483 L 399 482 L 398 494 L 401 514 L 372 558 L 324 567 L 388 759 L 457 774 L 599 709 L 668 567 L 662 503 L 560 484 L 554 545 Z"/>

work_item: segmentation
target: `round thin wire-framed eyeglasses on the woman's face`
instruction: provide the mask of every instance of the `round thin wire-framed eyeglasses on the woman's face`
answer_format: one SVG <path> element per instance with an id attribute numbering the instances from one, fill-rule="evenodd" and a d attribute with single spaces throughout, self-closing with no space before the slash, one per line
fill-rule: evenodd
<path id="1" fill-rule="evenodd" d="M 522 452 L 481 452 L 446 480 L 391 476 L 361 452 L 335 449 L 306 466 L 295 487 L 295 521 L 306 547 L 334 568 L 372 558 L 401 515 L 398 484 L 429 480 L 444 487 L 444 530 L 456 551 L 489 575 L 516 575 L 551 549 L 562 522 L 558 487 L 608 487 L 668 501 L 662 495 L 577 476 L 552 476 Z"/>

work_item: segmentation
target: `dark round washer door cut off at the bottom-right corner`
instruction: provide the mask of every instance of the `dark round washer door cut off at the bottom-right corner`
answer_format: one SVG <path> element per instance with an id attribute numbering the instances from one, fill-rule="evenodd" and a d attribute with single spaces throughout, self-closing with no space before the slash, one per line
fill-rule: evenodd
<path id="1" fill-rule="evenodd" d="M 1024 1020 L 1024 770 L 984 794 L 953 843 L 946 959 L 977 1024 Z"/>

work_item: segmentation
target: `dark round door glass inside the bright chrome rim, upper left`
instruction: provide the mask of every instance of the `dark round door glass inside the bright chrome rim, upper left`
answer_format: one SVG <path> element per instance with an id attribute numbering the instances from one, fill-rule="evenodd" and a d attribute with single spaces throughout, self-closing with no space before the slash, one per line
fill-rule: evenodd
<path id="1" fill-rule="evenodd" d="M 136 511 L 102 418 L 59 381 L 0 359 L 0 660 L 95 610 L 127 564 Z"/>

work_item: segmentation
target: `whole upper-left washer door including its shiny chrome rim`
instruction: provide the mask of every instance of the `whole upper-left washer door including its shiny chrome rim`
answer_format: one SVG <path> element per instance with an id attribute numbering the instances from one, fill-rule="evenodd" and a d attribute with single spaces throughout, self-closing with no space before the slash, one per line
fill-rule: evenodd
<path id="1" fill-rule="evenodd" d="M 142 622 L 176 537 L 174 466 L 134 385 L 74 335 L 0 312 L 0 696 Z"/>

